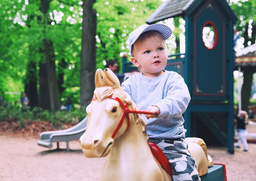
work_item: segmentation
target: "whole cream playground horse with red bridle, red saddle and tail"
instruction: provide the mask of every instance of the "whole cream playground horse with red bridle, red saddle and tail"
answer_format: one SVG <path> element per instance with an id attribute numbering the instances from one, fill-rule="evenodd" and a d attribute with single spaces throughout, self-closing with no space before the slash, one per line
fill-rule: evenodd
<path id="1" fill-rule="evenodd" d="M 97 69 L 92 102 L 86 108 L 88 123 L 80 137 L 88 158 L 105 157 L 102 181 L 172 181 L 171 167 L 163 152 L 148 143 L 145 123 L 130 96 L 121 89 L 110 70 Z M 199 175 L 208 172 L 212 162 L 202 139 L 188 139 Z M 204 148 L 202 148 L 201 146 Z M 206 151 L 206 152 L 204 152 Z"/>

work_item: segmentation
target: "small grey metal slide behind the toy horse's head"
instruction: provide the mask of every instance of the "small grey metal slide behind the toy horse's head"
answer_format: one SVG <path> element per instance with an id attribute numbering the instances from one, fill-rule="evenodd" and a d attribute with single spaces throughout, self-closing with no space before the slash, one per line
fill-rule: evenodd
<path id="1" fill-rule="evenodd" d="M 37 144 L 51 148 L 52 143 L 57 142 L 57 149 L 59 149 L 59 142 L 65 141 L 67 143 L 67 152 L 69 152 L 68 142 L 79 140 L 80 136 L 85 132 L 86 125 L 87 116 L 80 123 L 66 130 L 41 132 Z"/>

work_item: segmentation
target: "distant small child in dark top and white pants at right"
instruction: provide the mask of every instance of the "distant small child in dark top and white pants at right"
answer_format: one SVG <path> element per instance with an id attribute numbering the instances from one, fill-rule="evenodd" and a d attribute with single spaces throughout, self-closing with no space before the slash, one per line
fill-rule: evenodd
<path id="1" fill-rule="evenodd" d="M 236 130 L 238 132 L 238 141 L 236 148 L 240 148 L 240 145 L 243 143 L 244 152 L 248 151 L 248 144 L 246 140 L 247 136 L 247 130 L 246 130 L 246 121 L 248 118 L 248 114 L 246 111 L 239 111 L 237 115 L 235 115 L 236 118 Z"/>

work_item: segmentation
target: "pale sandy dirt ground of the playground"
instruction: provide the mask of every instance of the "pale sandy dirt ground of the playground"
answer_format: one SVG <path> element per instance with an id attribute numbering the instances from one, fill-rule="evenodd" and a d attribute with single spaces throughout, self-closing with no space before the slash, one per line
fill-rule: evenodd
<path id="1" fill-rule="evenodd" d="M 256 133 L 256 124 L 250 123 L 249 132 Z M 39 135 L 39 134 L 38 134 Z M 105 159 L 83 156 L 79 141 L 65 143 L 61 150 L 37 145 L 39 136 L 0 132 L 0 181 L 98 181 Z M 226 147 L 208 147 L 215 163 L 225 163 L 228 181 L 256 181 L 256 143 L 249 143 L 249 151 L 235 149 L 229 154 Z"/>

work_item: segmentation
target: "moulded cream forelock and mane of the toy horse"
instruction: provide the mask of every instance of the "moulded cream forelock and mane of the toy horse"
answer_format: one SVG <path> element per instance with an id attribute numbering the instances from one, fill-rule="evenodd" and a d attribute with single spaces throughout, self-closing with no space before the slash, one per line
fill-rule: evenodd
<path id="1" fill-rule="evenodd" d="M 94 96 L 95 98 L 97 98 L 97 101 L 101 102 L 103 101 L 105 98 L 108 98 L 109 96 L 112 96 L 114 94 L 114 88 L 117 88 L 117 91 L 115 91 L 115 93 L 126 93 L 123 89 L 121 89 L 120 86 L 101 86 L 98 87 L 94 90 Z M 118 89 L 119 88 L 119 89 Z M 120 95 L 118 96 L 121 100 L 123 99 L 123 97 L 126 97 L 124 100 L 122 100 L 123 102 L 125 101 L 130 109 L 135 110 L 136 109 L 136 105 L 135 103 L 132 101 L 132 99 L 130 98 L 130 96 L 128 96 L 128 94 L 126 94 L 126 96 L 124 95 Z M 140 127 L 141 127 L 141 131 L 143 132 L 143 134 L 147 137 L 148 139 L 148 135 L 146 133 L 146 127 L 145 127 L 145 123 L 143 121 L 143 119 L 141 118 L 141 116 L 139 114 L 130 114 L 129 115 L 130 119 L 134 120 L 134 122 L 136 124 L 139 123 Z"/>

